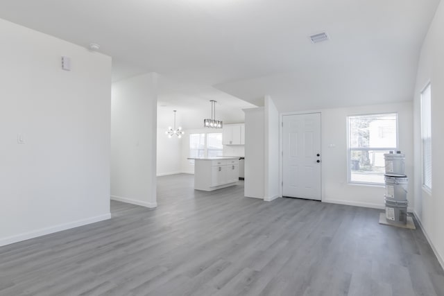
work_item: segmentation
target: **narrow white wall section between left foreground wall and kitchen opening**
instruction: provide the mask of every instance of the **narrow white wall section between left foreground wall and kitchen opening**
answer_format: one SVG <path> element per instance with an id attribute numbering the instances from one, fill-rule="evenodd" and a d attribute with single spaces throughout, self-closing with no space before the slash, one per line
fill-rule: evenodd
<path id="1" fill-rule="evenodd" d="M 156 207 L 157 74 L 112 84 L 112 199 Z"/>

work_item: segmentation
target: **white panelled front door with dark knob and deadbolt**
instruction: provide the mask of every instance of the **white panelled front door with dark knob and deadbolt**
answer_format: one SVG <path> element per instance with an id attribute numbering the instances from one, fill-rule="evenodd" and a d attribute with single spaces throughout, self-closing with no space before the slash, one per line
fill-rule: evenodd
<path id="1" fill-rule="evenodd" d="M 282 195 L 321 200 L 321 113 L 284 115 Z"/>

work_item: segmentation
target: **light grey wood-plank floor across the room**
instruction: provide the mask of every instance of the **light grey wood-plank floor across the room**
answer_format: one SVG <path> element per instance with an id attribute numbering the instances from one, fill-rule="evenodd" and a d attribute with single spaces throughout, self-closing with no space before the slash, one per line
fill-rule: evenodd
<path id="1" fill-rule="evenodd" d="M 159 177 L 158 207 L 0 247 L 0 295 L 444 295 L 420 229 L 379 210 L 194 191 Z M 418 225 L 416 225 L 418 227 Z"/>

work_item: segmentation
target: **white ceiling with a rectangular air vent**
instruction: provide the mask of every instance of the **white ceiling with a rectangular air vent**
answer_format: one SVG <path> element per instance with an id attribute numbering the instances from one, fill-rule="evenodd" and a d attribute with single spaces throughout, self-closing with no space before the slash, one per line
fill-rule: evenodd
<path id="1" fill-rule="evenodd" d="M 0 17 L 100 44 L 113 58 L 114 80 L 157 72 L 178 81 L 162 88 L 160 101 L 171 105 L 219 98 L 222 109 L 234 97 L 260 105 L 270 95 L 285 112 L 411 100 L 438 3 L 1 0 Z M 308 35 L 321 31 L 331 40 L 311 44 Z"/>

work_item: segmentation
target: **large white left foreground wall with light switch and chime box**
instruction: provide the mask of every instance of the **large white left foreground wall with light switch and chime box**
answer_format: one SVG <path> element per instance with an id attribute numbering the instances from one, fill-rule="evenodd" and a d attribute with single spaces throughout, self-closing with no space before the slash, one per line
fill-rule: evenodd
<path id="1" fill-rule="evenodd" d="M 0 36 L 0 245 L 110 218 L 111 58 L 1 19 Z"/>

